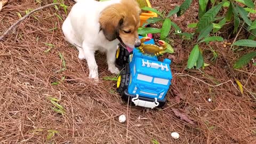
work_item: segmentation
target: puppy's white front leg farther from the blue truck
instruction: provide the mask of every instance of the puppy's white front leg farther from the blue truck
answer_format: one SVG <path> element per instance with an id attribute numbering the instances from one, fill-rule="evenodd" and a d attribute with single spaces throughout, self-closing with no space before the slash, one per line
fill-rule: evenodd
<path id="1" fill-rule="evenodd" d="M 95 61 L 94 50 L 91 50 L 90 46 L 87 46 L 83 43 L 84 57 L 87 61 L 87 65 L 89 68 L 89 78 L 93 78 L 95 80 L 99 80 L 98 74 L 98 65 Z"/>

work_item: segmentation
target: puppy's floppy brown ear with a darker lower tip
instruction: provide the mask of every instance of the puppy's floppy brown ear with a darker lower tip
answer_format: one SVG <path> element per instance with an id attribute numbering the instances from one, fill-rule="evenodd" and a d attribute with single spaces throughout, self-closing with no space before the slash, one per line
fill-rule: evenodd
<path id="1" fill-rule="evenodd" d="M 119 36 L 119 28 L 122 26 L 124 17 L 115 9 L 114 6 L 109 6 L 101 12 L 99 22 L 100 29 L 103 34 L 108 39 L 108 41 L 113 41 Z"/>

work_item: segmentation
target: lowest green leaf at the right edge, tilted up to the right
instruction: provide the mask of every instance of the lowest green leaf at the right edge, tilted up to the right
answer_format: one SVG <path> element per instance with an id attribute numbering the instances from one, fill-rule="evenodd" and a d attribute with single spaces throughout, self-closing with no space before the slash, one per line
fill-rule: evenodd
<path id="1" fill-rule="evenodd" d="M 254 57 L 256 57 L 256 51 L 243 55 L 241 58 L 239 58 L 235 62 L 233 68 L 235 69 L 242 68 L 243 66 L 247 65 L 247 63 L 249 63 L 250 60 L 253 59 Z"/>

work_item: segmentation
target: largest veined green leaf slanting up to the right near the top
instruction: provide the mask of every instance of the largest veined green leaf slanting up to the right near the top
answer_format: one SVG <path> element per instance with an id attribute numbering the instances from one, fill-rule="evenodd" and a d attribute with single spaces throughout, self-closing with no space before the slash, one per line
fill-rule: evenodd
<path id="1" fill-rule="evenodd" d="M 222 4 L 223 4 L 223 2 L 221 2 L 220 4 L 212 7 L 212 9 L 210 9 L 209 11 L 207 11 L 203 15 L 203 17 L 197 23 L 197 30 L 196 30 L 197 32 L 199 32 L 202 29 L 204 29 L 206 26 L 208 26 L 214 20 L 215 16 L 220 11 L 220 8 L 221 8 Z"/>

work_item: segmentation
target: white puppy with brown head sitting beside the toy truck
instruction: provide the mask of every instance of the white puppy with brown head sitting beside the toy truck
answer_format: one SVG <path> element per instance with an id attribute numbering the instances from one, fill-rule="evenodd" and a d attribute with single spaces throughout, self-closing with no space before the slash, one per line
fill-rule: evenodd
<path id="1" fill-rule="evenodd" d="M 106 52 L 108 70 L 118 74 L 116 47 L 121 43 L 128 51 L 140 46 L 138 28 L 140 7 L 136 0 L 75 0 L 62 31 L 65 39 L 76 46 L 78 58 L 86 59 L 89 77 L 99 79 L 94 52 Z"/>

